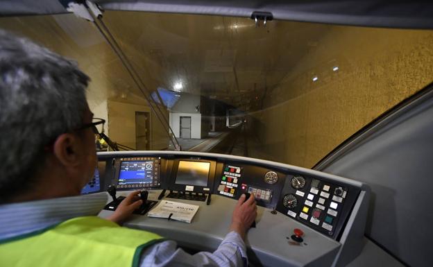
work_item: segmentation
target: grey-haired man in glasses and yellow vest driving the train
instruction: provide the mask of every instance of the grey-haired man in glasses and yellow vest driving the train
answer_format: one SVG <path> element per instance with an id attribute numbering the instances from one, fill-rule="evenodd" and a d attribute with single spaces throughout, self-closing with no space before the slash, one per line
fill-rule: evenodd
<path id="1" fill-rule="evenodd" d="M 0 266 L 246 264 L 253 196 L 241 196 L 213 253 L 119 227 L 142 204 L 139 191 L 108 218 L 115 223 L 95 216 L 107 194 L 79 196 L 96 166 L 88 81 L 72 62 L 0 31 Z"/>

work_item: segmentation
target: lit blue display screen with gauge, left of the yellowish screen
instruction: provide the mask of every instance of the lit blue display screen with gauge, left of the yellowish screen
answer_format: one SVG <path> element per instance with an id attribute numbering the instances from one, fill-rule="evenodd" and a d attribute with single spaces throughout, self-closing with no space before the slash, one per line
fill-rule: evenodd
<path id="1" fill-rule="evenodd" d="M 119 184 L 153 183 L 153 162 L 121 162 Z"/>

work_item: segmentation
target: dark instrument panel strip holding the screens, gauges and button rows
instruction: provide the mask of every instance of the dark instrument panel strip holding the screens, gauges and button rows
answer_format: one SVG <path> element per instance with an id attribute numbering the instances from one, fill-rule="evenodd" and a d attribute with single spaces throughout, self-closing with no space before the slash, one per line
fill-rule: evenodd
<path id="1" fill-rule="evenodd" d="M 99 178 L 98 169 L 104 167 L 105 177 Z M 221 156 L 99 155 L 98 169 L 83 193 L 105 191 L 110 184 L 119 191 L 164 189 L 201 200 L 206 198 L 194 196 L 212 193 L 237 200 L 242 193 L 254 193 L 257 205 L 280 212 L 332 239 L 339 238 L 361 190 L 321 175 L 224 160 Z M 108 182 L 100 187 L 99 180 Z"/>

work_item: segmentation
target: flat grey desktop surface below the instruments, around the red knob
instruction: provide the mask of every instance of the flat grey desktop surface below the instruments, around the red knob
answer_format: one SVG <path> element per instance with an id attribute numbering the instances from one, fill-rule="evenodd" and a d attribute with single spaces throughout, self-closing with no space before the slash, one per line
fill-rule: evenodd
<path id="1" fill-rule="evenodd" d="M 126 195 L 127 192 L 122 192 Z M 149 191 L 149 200 L 158 200 L 159 190 Z M 192 223 L 168 221 L 163 218 L 134 215 L 124 226 L 148 230 L 167 239 L 177 241 L 182 247 L 194 250 L 216 250 L 228 234 L 232 211 L 237 200 L 212 195 L 212 202 L 173 200 L 200 206 Z M 103 210 L 99 216 L 106 217 L 112 212 Z M 283 215 L 271 214 L 271 209 L 257 207 L 257 226 L 246 236 L 248 256 L 252 266 L 331 266 L 341 244 L 319 232 Z M 299 246 L 289 243 L 293 230 L 299 228 L 305 233 L 304 242 Z"/>

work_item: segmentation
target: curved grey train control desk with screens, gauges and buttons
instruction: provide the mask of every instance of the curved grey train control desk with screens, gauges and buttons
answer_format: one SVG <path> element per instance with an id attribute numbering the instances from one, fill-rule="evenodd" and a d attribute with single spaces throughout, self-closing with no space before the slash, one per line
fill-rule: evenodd
<path id="1" fill-rule="evenodd" d="M 362 249 L 369 195 L 362 182 L 212 153 L 128 151 L 98 153 L 98 158 L 83 193 L 110 186 L 120 195 L 146 189 L 153 203 L 167 199 L 199 206 L 192 223 L 144 214 L 125 224 L 182 247 L 215 250 L 228 233 L 237 199 L 254 193 L 258 215 L 246 236 L 251 266 L 345 266 Z M 110 214 L 103 210 L 100 216 Z"/>

